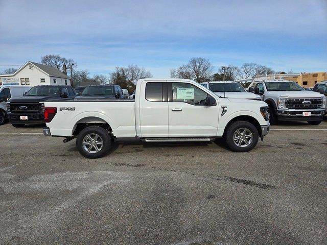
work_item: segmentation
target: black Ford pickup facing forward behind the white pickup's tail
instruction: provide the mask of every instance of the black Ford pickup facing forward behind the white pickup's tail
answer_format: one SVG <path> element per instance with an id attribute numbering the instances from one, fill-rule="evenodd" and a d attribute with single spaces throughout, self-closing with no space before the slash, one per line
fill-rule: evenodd
<path id="1" fill-rule="evenodd" d="M 12 126 L 24 127 L 26 124 L 44 123 L 42 101 L 54 99 L 73 99 L 74 89 L 67 85 L 41 85 L 31 88 L 24 96 L 9 100 L 7 117 Z"/>

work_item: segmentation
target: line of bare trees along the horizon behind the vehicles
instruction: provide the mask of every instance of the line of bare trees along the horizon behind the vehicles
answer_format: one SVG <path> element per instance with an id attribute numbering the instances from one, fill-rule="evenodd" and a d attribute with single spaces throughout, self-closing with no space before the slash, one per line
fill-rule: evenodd
<path id="1" fill-rule="evenodd" d="M 73 74 L 73 86 L 83 86 L 90 84 L 118 84 L 122 88 L 127 88 L 129 92 L 135 89 L 138 79 L 151 78 L 151 72 L 144 67 L 138 65 L 128 65 L 127 67 L 116 66 L 115 70 L 107 75 L 94 75 L 90 77 L 88 70 L 77 70 L 77 63 L 69 58 L 60 55 L 45 55 L 41 57 L 41 63 L 55 67 L 64 71 L 64 64 L 67 67 L 68 76 Z M 70 70 L 71 69 L 71 70 Z M 13 74 L 17 69 L 8 68 L 3 70 L 1 74 Z M 236 81 L 250 79 L 257 75 L 264 74 L 286 74 L 283 71 L 274 71 L 272 68 L 256 63 L 244 63 L 241 66 L 228 65 L 225 69 L 225 81 Z M 293 73 L 292 70 L 288 74 Z M 197 82 L 207 81 L 223 81 L 224 70 L 214 69 L 214 66 L 208 59 L 191 58 L 187 64 L 183 64 L 177 68 L 170 70 L 171 78 L 191 79 Z"/>

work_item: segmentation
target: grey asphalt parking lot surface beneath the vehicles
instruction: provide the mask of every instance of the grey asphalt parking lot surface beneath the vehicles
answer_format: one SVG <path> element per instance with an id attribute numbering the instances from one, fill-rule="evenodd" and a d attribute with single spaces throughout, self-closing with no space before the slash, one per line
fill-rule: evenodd
<path id="1" fill-rule="evenodd" d="M 249 153 L 138 144 L 86 159 L 42 126 L 0 126 L 0 243 L 326 244 L 327 121 Z"/>

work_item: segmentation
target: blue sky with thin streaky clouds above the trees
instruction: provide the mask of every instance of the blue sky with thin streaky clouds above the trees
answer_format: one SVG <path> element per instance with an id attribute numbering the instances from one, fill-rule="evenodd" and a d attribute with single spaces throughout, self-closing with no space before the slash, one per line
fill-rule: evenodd
<path id="1" fill-rule="evenodd" d="M 91 75 L 137 64 L 169 77 L 192 57 L 215 70 L 255 62 L 327 71 L 326 0 L 0 0 L 0 33 L 0 65 L 60 54 Z"/>

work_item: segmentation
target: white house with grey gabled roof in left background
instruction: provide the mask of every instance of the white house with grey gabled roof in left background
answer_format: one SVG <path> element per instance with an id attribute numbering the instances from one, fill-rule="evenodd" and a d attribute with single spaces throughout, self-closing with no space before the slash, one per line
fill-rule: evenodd
<path id="1" fill-rule="evenodd" d="M 71 79 L 60 70 L 28 61 L 14 74 L 0 75 L 0 85 L 71 85 Z"/>

